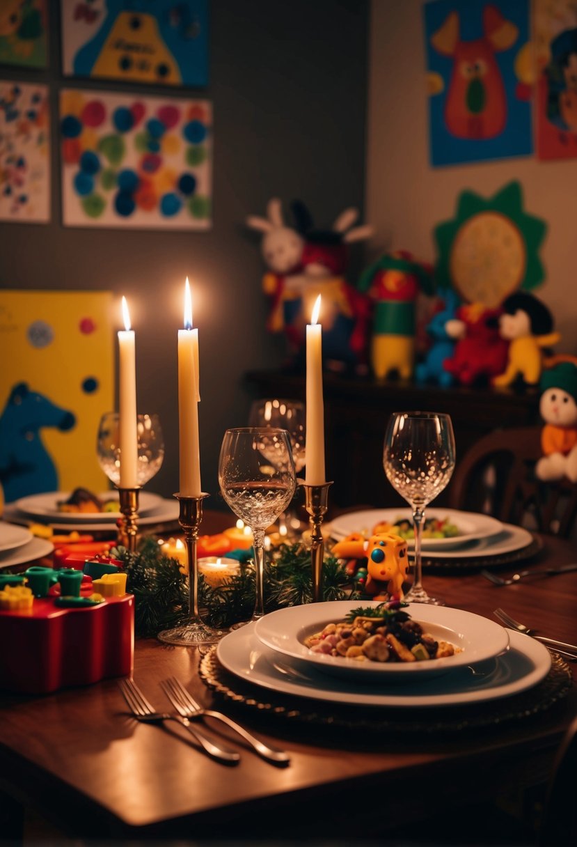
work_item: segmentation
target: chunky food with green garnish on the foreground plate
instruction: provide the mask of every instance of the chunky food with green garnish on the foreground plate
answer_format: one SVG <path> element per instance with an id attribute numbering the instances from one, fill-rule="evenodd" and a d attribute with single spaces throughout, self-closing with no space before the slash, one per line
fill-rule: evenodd
<path id="1" fill-rule="evenodd" d="M 408 603 L 389 601 L 353 609 L 344 620 L 327 623 L 305 638 L 313 653 L 353 662 L 431 662 L 454 656 L 460 647 L 437 640 L 413 619 Z"/>

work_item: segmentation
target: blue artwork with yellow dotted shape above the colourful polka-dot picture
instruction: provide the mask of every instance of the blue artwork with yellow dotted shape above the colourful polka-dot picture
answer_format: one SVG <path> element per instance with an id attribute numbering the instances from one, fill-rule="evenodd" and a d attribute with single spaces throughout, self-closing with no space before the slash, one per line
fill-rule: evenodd
<path id="1" fill-rule="evenodd" d="M 206 86 L 207 0 L 63 0 L 63 73 Z"/>

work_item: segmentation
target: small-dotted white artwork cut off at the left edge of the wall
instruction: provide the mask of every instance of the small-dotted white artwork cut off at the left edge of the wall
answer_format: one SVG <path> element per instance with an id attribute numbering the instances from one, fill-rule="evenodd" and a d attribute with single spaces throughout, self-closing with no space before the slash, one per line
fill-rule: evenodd
<path id="1" fill-rule="evenodd" d="M 50 220 L 47 86 L 0 80 L 0 220 Z"/>

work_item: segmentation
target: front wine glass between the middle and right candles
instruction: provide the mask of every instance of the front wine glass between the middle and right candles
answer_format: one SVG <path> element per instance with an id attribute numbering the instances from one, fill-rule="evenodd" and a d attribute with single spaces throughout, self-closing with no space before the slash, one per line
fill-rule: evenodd
<path id="1" fill-rule="evenodd" d="M 287 430 L 227 429 L 218 462 L 218 483 L 228 506 L 252 530 L 256 603 L 250 621 L 256 621 L 264 615 L 265 530 L 285 511 L 296 487 Z M 250 621 L 234 624 L 232 628 Z"/>

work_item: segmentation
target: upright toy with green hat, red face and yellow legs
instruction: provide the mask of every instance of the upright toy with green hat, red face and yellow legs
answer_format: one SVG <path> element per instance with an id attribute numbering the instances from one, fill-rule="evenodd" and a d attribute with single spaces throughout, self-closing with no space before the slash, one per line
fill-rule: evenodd
<path id="1" fill-rule="evenodd" d="M 377 379 L 413 375 L 415 302 L 431 285 L 431 266 L 406 250 L 385 253 L 361 275 L 357 287 L 373 303 L 371 366 Z"/>

